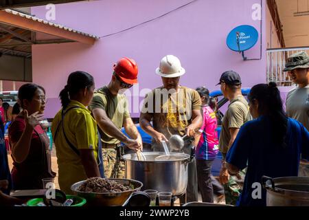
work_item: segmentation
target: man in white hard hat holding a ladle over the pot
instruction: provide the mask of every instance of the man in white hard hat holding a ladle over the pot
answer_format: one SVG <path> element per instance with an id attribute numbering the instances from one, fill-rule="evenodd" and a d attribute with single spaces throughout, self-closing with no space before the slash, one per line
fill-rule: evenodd
<path id="1" fill-rule="evenodd" d="M 161 76 L 163 86 L 147 94 L 139 124 L 152 136 L 154 151 L 164 151 L 161 142 L 168 142 L 172 135 L 187 135 L 184 138 L 185 147 L 181 151 L 190 155 L 194 152 L 196 131 L 203 123 L 201 98 L 194 89 L 179 85 L 185 69 L 176 56 L 164 56 L 156 73 Z M 186 196 L 187 202 L 198 201 L 195 159 L 188 165 Z M 181 197 L 181 203 L 185 203 L 185 197 Z"/>

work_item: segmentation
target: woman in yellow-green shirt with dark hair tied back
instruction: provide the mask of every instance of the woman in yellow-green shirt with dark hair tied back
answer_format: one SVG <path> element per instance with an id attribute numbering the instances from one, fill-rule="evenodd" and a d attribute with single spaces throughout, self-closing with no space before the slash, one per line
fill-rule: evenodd
<path id="1" fill-rule="evenodd" d="M 102 159 L 99 158 L 101 153 L 98 153 L 97 124 L 87 109 L 94 89 L 93 77 L 78 71 L 69 75 L 67 85 L 59 95 L 62 109 L 54 118 L 52 133 L 58 159 L 59 186 L 66 193 L 70 193 L 71 185 L 78 181 L 104 176 L 98 166 Z"/>

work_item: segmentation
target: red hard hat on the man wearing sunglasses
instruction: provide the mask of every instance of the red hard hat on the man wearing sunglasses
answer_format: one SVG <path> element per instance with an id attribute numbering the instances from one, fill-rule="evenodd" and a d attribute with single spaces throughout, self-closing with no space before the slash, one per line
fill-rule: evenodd
<path id="1" fill-rule="evenodd" d="M 114 71 L 124 83 L 137 83 L 137 74 L 139 72 L 137 64 L 133 59 L 124 57 L 114 64 Z"/>

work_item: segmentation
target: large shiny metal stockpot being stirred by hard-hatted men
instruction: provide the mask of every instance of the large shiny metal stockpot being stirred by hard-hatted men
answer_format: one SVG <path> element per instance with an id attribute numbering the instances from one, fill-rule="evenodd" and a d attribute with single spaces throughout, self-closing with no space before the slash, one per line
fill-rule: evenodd
<path id="1" fill-rule="evenodd" d="M 187 188 L 187 164 L 190 155 L 185 153 L 170 153 L 166 160 L 156 158 L 165 155 L 161 152 L 144 153 L 146 160 L 139 161 L 136 153 L 124 155 L 126 178 L 141 181 L 144 189 L 172 192 L 182 195 Z"/>

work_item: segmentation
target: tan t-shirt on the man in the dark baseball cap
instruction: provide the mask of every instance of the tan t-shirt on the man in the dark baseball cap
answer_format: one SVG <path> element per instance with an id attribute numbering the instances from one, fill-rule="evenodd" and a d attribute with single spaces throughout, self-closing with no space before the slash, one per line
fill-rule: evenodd
<path id="1" fill-rule="evenodd" d="M 219 149 L 221 153 L 227 153 L 227 151 L 229 151 L 229 140 L 231 140 L 229 129 L 240 129 L 242 124 L 249 120 L 251 120 L 249 105 L 244 96 L 238 96 L 231 100 L 229 108 L 222 119 L 222 131 L 219 140 Z"/>

